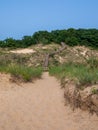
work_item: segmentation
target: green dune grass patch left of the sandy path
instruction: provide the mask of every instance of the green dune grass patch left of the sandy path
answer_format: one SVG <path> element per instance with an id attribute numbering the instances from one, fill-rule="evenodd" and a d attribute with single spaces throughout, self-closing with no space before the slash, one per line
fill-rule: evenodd
<path id="1" fill-rule="evenodd" d="M 42 68 L 10 64 L 6 66 L 0 66 L 0 72 L 10 73 L 13 77 L 23 81 L 31 81 L 32 79 L 41 77 Z"/>

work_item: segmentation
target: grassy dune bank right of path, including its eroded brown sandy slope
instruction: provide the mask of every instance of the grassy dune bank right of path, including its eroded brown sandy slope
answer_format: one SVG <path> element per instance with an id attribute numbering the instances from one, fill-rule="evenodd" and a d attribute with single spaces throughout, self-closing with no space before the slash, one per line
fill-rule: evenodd
<path id="1" fill-rule="evenodd" d="M 69 62 L 50 67 L 51 75 L 60 79 L 66 102 L 72 107 L 88 110 L 98 115 L 98 63 L 88 59 L 86 63 Z"/>

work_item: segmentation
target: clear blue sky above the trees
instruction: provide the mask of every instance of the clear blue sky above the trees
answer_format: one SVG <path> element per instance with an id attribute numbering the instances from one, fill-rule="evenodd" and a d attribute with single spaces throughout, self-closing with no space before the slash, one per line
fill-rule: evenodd
<path id="1" fill-rule="evenodd" d="M 0 0 L 0 39 L 39 30 L 98 29 L 98 0 Z"/>

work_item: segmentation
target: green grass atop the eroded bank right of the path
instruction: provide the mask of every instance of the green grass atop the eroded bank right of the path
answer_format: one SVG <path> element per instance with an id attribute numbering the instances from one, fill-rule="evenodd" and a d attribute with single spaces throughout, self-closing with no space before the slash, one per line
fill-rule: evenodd
<path id="1" fill-rule="evenodd" d="M 82 86 L 98 82 L 98 68 L 91 68 L 84 64 L 67 63 L 61 66 L 50 67 L 49 73 L 59 79 L 73 79 L 76 81 L 76 84 Z"/>

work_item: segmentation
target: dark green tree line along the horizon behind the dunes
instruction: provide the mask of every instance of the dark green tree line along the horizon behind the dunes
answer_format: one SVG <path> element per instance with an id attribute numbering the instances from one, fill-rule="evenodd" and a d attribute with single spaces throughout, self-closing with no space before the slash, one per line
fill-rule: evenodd
<path id="1" fill-rule="evenodd" d="M 35 44 L 60 44 L 65 42 L 69 46 L 85 45 L 98 48 L 98 29 L 74 29 L 38 31 L 32 36 L 24 36 L 20 40 L 6 38 L 0 41 L 2 48 L 26 48 Z"/>

